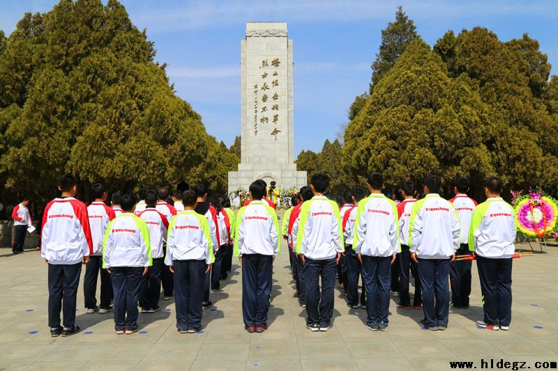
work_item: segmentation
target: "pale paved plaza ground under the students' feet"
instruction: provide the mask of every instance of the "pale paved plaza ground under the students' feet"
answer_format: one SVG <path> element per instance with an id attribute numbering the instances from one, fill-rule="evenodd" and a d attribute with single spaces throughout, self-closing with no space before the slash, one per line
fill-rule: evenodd
<path id="1" fill-rule="evenodd" d="M 450 361 L 558 361 L 558 248 L 513 261 L 510 331 L 477 329 L 481 294 L 473 267 L 471 307 L 451 310 L 447 331 L 421 330 L 421 310 L 398 310 L 391 301 L 388 331 L 364 326 L 365 310 L 347 308 L 335 291 L 333 328 L 311 333 L 305 310 L 294 297 L 288 254 L 276 260 L 269 330 L 247 333 L 241 313 L 241 272 L 204 310 L 202 333 L 180 334 L 174 301 L 164 310 L 140 314 L 140 333 L 114 333 L 112 313 L 86 314 L 77 299 L 82 331 L 50 338 L 47 326 L 47 267 L 38 251 L 11 255 L 0 249 L 0 370 L 448 370 Z M 82 270 L 82 274 L 84 269 Z M 490 363 L 490 361 L 488 361 Z"/>

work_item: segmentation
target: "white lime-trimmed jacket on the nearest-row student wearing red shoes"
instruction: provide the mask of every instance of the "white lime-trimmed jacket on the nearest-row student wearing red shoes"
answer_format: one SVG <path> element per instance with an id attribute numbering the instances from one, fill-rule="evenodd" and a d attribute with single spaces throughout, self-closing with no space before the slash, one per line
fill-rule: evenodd
<path id="1" fill-rule="evenodd" d="M 234 256 L 262 254 L 277 256 L 280 252 L 279 222 L 273 207 L 252 200 L 236 214 Z"/>

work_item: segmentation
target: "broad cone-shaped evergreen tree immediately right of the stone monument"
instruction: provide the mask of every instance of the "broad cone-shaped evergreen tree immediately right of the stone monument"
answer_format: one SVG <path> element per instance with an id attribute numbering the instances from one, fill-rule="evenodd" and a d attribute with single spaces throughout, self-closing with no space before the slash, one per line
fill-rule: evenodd
<path id="1" fill-rule="evenodd" d="M 352 177 L 372 171 L 387 184 L 420 182 L 440 173 L 474 179 L 495 173 L 485 135 L 487 106 L 420 38 L 412 41 L 375 86 L 347 127 L 343 164 Z"/>

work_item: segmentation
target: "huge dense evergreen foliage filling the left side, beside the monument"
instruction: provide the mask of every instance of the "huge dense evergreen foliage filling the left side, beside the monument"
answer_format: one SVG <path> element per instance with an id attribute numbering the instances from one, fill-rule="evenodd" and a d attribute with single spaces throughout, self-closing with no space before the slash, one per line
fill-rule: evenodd
<path id="1" fill-rule="evenodd" d="M 225 191 L 238 157 L 206 133 L 154 56 L 116 0 L 24 15 L 0 53 L 3 186 L 44 201 L 71 171 L 111 190 L 186 178 Z"/>

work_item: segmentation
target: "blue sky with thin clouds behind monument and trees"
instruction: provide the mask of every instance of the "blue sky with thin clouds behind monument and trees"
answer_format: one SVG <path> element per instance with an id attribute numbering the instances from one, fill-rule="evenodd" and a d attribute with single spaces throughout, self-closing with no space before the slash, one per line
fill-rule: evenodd
<path id="1" fill-rule="evenodd" d="M 24 12 L 46 12 L 56 2 L 0 0 L 0 29 L 9 34 Z M 449 29 L 485 26 L 500 40 L 529 33 L 550 63 L 558 64 L 558 0 L 121 2 L 155 42 L 156 59 L 168 63 L 179 96 L 202 115 L 209 134 L 227 145 L 240 134 L 240 40 L 246 22 L 288 22 L 294 40 L 295 157 L 303 149 L 320 150 L 347 123 L 347 108 L 368 89 L 380 31 L 398 4 L 431 46 Z"/>

